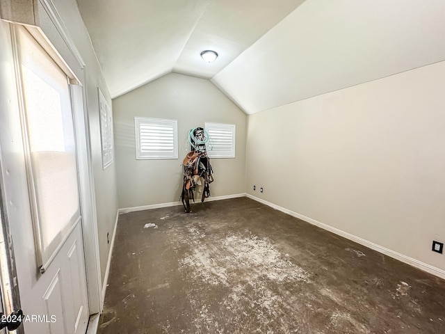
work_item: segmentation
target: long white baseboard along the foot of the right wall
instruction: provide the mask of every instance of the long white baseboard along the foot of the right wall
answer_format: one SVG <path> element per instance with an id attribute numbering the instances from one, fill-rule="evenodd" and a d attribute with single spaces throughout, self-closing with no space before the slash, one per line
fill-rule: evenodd
<path id="1" fill-rule="evenodd" d="M 246 193 L 245 196 L 248 198 L 251 198 L 252 200 L 256 200 L 257 202 L 261 202 L 265 205 L 268 205 L 269 207 L 273 207 L 273 209 L 277 209 L 281 212 L 284 212 L 285 214 L 290 214 L 291 216 L 294 216 L 296 218 L 301 219 L 302 221 L 306 221 L 307 223 L 310 223 L 312 225 L 316 225 L 319 228 L 323 228 L 323 230 L 327 230 L 329 232 L 332 232 L 334 234 L 337 234 L 341 237 L 344 237 L 346 239 L 349 239 L 351 241 L 357 242 L 357 244 L 361 244 L 363 246 L 366 246 L 368 248 L 371 248 L 373 250 L 378 251 L 379 253 L 388 255 L 389 257 L 392 257 L 396 260 L 399 260 L 401 262 L 404 262 L 406 264 L 410 264 L 412 267 L 416 267 L 417 269 L 421 269 L 423 271 L 426 271 L 427 273 L 431 273 L 432 275 L 438 276 L 440 278 L 445 279 L 445 271 L 436 267 L 431 266 L 430 264 L 426 264 L 425 262 L 421 262 L 419 260 L 413 259 L 412 257 L 408 257 L 406 255 L 403 255 L 401 253 L 397 253 L 394 250 L 390 250 L 388 248 L 382 247 L 378 244 L 374 244 L 371 241 L 356 237 L 353 234 L 350 234 L 348 232 L 344 232 L 342 230 L 339 230 L 338 228 L 333 228 L 330 225 L 326 225 L 324 223 L 321 223 L 319 221 L 316 221 L 315 219 L 309 218 L 307 216 L 303 216 L 302 214 L 298 214 L 297 212 L 293 212 L 289 209 L 286 209 L 284 207 L 280 207 L 279 205 L 275 205 L 271 202 L 268 202 L 267 200 L 263 200 L 261 198 L 257 198 L 255 196 L 250 195 L 249 193 Z"/>

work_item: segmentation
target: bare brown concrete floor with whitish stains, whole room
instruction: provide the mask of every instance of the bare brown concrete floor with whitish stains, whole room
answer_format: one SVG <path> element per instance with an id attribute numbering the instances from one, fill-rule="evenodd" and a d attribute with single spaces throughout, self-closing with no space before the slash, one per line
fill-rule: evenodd
<path id="1" fill-rule="evenodd" d="M 445 280 L 249 198 L 122 214 L 99 334 L 445 333 Z"/>

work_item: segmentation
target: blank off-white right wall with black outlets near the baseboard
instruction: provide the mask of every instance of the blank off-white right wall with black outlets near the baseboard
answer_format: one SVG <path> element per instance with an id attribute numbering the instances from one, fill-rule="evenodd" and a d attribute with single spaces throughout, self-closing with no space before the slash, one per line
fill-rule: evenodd
<path id="1" fill-rule="evenodd" d="M 444 92 L 442 62 L 250 115 L 248 193 L 443 272 Z"/>

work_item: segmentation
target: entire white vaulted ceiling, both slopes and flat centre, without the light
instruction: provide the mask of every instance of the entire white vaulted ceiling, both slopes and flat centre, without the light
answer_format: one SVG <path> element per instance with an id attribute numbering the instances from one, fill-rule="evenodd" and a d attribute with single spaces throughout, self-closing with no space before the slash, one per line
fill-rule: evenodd
<path id="1" fill-rule="evenodd" d="M 443 0 L 77 1 L 113 98 L 177 72 L 255 113 L 445 60 Z"/>

